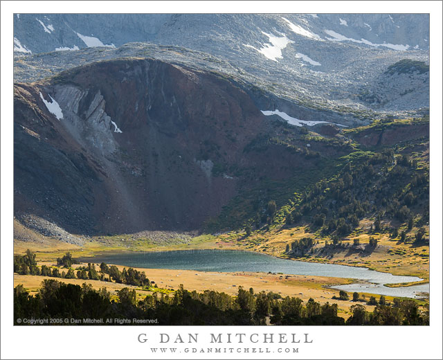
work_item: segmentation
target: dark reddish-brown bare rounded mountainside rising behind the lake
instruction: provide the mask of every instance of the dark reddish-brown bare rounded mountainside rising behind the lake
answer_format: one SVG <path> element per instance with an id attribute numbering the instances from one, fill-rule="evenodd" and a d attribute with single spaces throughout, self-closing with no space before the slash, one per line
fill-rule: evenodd
<path id="1" fill-rule="evenodd" d="M 156 60 L 17 84 L 15 212 L 73 233 L 199 228 L 239 188 L 315 166 L 255 149 L 290 127 L 271 123 L 230 80 Z"/>

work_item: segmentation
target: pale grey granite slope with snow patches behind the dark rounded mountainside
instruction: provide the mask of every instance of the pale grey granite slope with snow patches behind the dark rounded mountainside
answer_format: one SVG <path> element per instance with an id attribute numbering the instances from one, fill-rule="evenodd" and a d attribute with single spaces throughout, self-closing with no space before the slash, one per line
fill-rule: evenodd
<path id="1" fill-rule="evenodd" d="M 299 105 L 352 108 L 354 113 L 395 111 L 400 116 L 428 107 L 428 91 L 420 80 L 411 87 L 391 79 L 397 86 L 390 101 L 371 102 L 365 94 L 399 60 L 428 63 L 428 21 L 427 15 L 396 14 L 17 14 L 15 53 L 17 63 L 32 73 L 40 66 L 60 71 L 98 57 L 115 58 L 120 51 L 141 51 L 140 46 L 118 48 L 128 42 L 180 46 L 213 55 L 199 56 L 200 62 L 209 58 L 210 66 L 215 62 L 222 72 L 235 69 L 242 78 Z M 80 51 L 94 46 L 102 47 L 100 53 Z M 169 57 L 181 53 L 171 50 Z M 51 51 L 60 54 L 40 55 Z M 180 62 L 181 56 L 175 55 L 174 61 Z M 411 95 L 405 98 L 405 91 Z"/>

